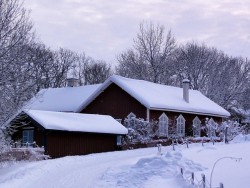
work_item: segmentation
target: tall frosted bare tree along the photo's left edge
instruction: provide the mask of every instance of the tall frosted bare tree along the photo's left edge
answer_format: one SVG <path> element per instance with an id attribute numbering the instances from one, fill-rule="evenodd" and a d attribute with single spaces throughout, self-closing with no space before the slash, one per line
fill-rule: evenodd
<path id="1" fill-rule="evenodd" d="M 22 2 L 1 0 L 0 15 L 1 124 L 21 105 L 21 100 L 12 99 L 11 93 L 19 96 L 29 84 L 25 78 L 28 74 L 22 74 L 30 70 L 29 64 L 25 61 L 26 53 L 23 47 L 32 43 L 34 34 Z"/>

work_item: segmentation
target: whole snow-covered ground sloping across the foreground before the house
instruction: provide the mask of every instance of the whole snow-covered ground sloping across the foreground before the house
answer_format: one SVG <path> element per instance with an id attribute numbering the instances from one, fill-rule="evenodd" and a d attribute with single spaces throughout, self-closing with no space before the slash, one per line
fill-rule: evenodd
<path id="1" fill-rule="evenodd" d="M 195 183 L 210 174 L 216 160 L 222 157 L 242 158 L 240 162 L 225 158 L 220 160 L 213 172 L 212 187 L 250 187 L 249 137 L 238 137 L 230 144 L 206 143 L 158 149 L 136 149 L 86 156 L 64 157 L 39 162 L 22 162 L 0 168 L 1 188 L 190 188 L 180 175 L 195 174 Z"/>

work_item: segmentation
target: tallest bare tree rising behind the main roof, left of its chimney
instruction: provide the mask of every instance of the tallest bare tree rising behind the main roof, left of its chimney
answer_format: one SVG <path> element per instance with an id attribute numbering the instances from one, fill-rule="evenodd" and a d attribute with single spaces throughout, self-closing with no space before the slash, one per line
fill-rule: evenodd
<path id="1" fill-rule="evenodd" d="M 154 25 L 151 22 L 142 23 L 134 39 L 134 49 L 118 56 L 119 64 L 116 72 L 131 78 L 168 83 L 175 47 L 175 39 L 171 31 L 165 37 L 163 26 Z"/>

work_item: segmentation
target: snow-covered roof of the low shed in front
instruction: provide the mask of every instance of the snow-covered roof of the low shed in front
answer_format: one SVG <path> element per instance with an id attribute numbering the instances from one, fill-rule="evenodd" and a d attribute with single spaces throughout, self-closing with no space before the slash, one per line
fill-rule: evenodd
<path id="1" fill-rule="evenodd" d="M 49 130 L 127 134 L 128 130 L 111 116 L 25 110 L 28 116 Z"/>

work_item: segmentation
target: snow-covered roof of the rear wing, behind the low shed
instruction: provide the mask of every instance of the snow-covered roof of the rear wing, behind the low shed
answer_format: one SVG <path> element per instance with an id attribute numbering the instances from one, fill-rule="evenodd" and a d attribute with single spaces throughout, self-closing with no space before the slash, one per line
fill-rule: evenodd
<path id="1" fill-rule="evenodd" d="M 75 112 L 100 85 L 42 89 L 24 108 Z"/>

